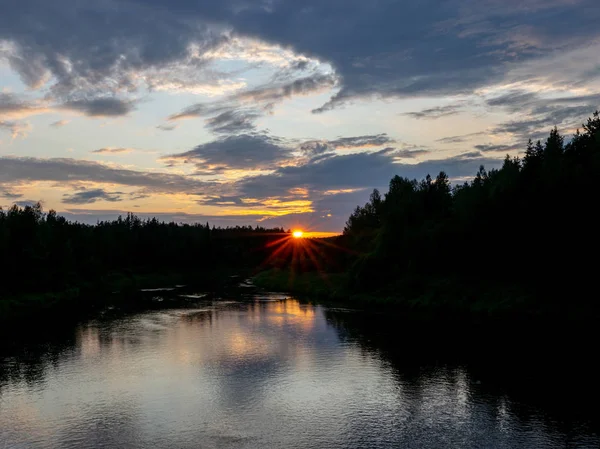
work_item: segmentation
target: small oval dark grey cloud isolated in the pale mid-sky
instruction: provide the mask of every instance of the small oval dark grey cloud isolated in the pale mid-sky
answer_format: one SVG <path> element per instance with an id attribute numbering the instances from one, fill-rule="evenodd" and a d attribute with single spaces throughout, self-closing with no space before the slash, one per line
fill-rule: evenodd
<path id="1" fill-rule="evenodd" d="M 265 134 L 242 134 L 204 143 L 193 150 L 162 159 L 192 162 L 200 170 L 223 170 L 270 168 L 290 157 L 290 150 L 277 138 Z"/>

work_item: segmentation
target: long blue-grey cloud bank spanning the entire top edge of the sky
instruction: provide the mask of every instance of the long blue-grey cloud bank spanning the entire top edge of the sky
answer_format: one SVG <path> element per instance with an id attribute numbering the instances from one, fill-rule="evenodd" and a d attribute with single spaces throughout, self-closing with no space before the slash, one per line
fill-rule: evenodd
<path id="1" fill-rule="evenodd" d="M 27 85 L 39 87 L 51 77 L 51 93 L 60 96 L 104 88 L 131 91 L 141 70 L 182 63 L 202 67 L 203 55 L 230 39 L 233 29 L 236 36 L 329 62 L 341 90 L 317 109 L 323 111 L 356 97 L 472 92 L 502 80 L 513 62 L 564 53 L 600 34 L 596 0 L 281 0 L 265 5 L 11 1 L 0 16 L 0 40 L 12 44 L 4 57 Z M 305 89 L 297 85 L 289 90 Z"/>

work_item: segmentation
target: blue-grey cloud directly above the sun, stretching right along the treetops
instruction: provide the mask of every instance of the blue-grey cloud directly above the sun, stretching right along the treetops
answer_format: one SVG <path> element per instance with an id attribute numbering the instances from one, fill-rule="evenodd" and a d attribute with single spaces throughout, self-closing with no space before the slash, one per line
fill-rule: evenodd
<path id="1" fill-rule="evenodd" d="M 402 154 L 402 151 L 400 151 Z M 303 226 L 322 231 L 339 231 L 358 204 L 364 204 L 373 188 L 387 191 L 394 175 L 423 179 L 446 171 L 451 179 L 475 175 L 480 165 L 499 167 L 501 159 L 471 152 L 443 160 L 417 164 L 398 163 L 398 151 L 385 149 L 344 155 L 328 155 L 302 166 L 277 169 L 269 175 L 242 179 L 235 184 L 239 198 L 265 199 L 281 197 L 282 192 L 298 188 L 308 192 L 312 213 L 267 217 L 263 223 L 277 226 Z"/>

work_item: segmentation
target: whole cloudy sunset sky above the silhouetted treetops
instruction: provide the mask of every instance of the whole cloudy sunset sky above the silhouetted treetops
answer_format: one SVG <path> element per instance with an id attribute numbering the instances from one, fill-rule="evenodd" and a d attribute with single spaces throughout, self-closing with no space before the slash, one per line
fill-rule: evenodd
<path id="1" fill-rule="evenodd" d="M 0 206 L 340 232 L 600 105 L 597 0 L 2 0 Z"/>

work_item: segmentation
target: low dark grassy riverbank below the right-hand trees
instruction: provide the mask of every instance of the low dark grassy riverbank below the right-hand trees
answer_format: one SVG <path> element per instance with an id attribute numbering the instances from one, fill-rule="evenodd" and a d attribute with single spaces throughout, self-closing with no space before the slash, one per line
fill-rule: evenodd
<path id="1" fill-rule="evenodd" d="M 590 310 L 573 304 L 557 307 L 555 302 L 547 301 L 547 296 L 535 295 L 517 285 L 486 285 L 456 278 L 398 279 L 368 294 L 353 291 L 344 273 L 271 269 L 255 275 L 253 282 L 266 290 L 289 292 L 321 302 L 391 309 L 415 318 L 522 322 L 597 319 Z"/>

